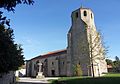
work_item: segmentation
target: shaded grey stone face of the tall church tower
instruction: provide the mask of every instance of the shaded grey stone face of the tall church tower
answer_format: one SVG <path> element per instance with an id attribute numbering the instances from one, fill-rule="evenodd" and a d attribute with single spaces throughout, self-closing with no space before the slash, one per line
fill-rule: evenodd
<path id="1" fill-rule="evenodd" d="M 90 64 L 90 57 L 85 25 L 81 19 L 80 9 L 74 11 L 72 13 L 72 27 L 68 33 L 68 76 L 74 75 L 74 68 L 77 64 L 81 66 L 83 75 L 88 75 L 87 66 Z"/>

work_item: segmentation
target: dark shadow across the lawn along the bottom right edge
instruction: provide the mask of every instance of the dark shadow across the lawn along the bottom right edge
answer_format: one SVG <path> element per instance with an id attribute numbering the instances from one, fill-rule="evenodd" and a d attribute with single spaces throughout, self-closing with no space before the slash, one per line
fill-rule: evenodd
<path id="1" fill-rule="evenodd" d="M 76 78 L 56 80 L 52 84 L 120 84 L 120 77 Z"/>

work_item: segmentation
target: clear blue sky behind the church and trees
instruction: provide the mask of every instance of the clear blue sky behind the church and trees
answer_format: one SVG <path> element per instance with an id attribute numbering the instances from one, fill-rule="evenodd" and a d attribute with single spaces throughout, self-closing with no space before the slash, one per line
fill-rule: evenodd
<path id="1" fill-rule="evenodd" d="M 65 49 L 71 27 L 71 12 L 80 8 L 92 9 L 95 24 L 102 32 L 108 48 L 106 57 L 120 57 L 120 0 L 34 0 L 32 6 L 18 5 L 15 13 L 4 12 L 11 19 L 15 42 L 22 44 L 29 60 L 38 55 Z"/>

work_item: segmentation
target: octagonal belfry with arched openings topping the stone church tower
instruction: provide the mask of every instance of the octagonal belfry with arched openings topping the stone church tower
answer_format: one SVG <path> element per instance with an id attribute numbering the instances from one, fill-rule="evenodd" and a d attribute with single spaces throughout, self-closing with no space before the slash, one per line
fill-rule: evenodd
<path id="1" fill-rule="evenodd" d="M 83 21 L 89 27 L 95 27 L 94 14 L 89 8 L 79 8 L 72 12 L 72 25 L 79 24 L 79 20 Z M 95 28 L 96 30 L 96 28 Z"/>

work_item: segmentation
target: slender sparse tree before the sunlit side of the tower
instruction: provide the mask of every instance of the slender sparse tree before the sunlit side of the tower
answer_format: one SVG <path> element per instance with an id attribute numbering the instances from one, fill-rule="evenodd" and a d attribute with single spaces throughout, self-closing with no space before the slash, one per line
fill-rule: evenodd
<path id="1" fill-rule="evenodd" d="M 92 68 L 92 76 L 95 77 L 94 63 L 96 63 L 98 66 L 96 59 L 101 61 L 105 60 L 107 48 L 104 45 L 103 39 L 101 37 L 102 36 L 101 33 L 93 28 L 89 28 L 89 27 L 87 28 L 88 28 L 88 40 L 89 40 L 88 45 L 89 45 L 90 62 Z"/>

